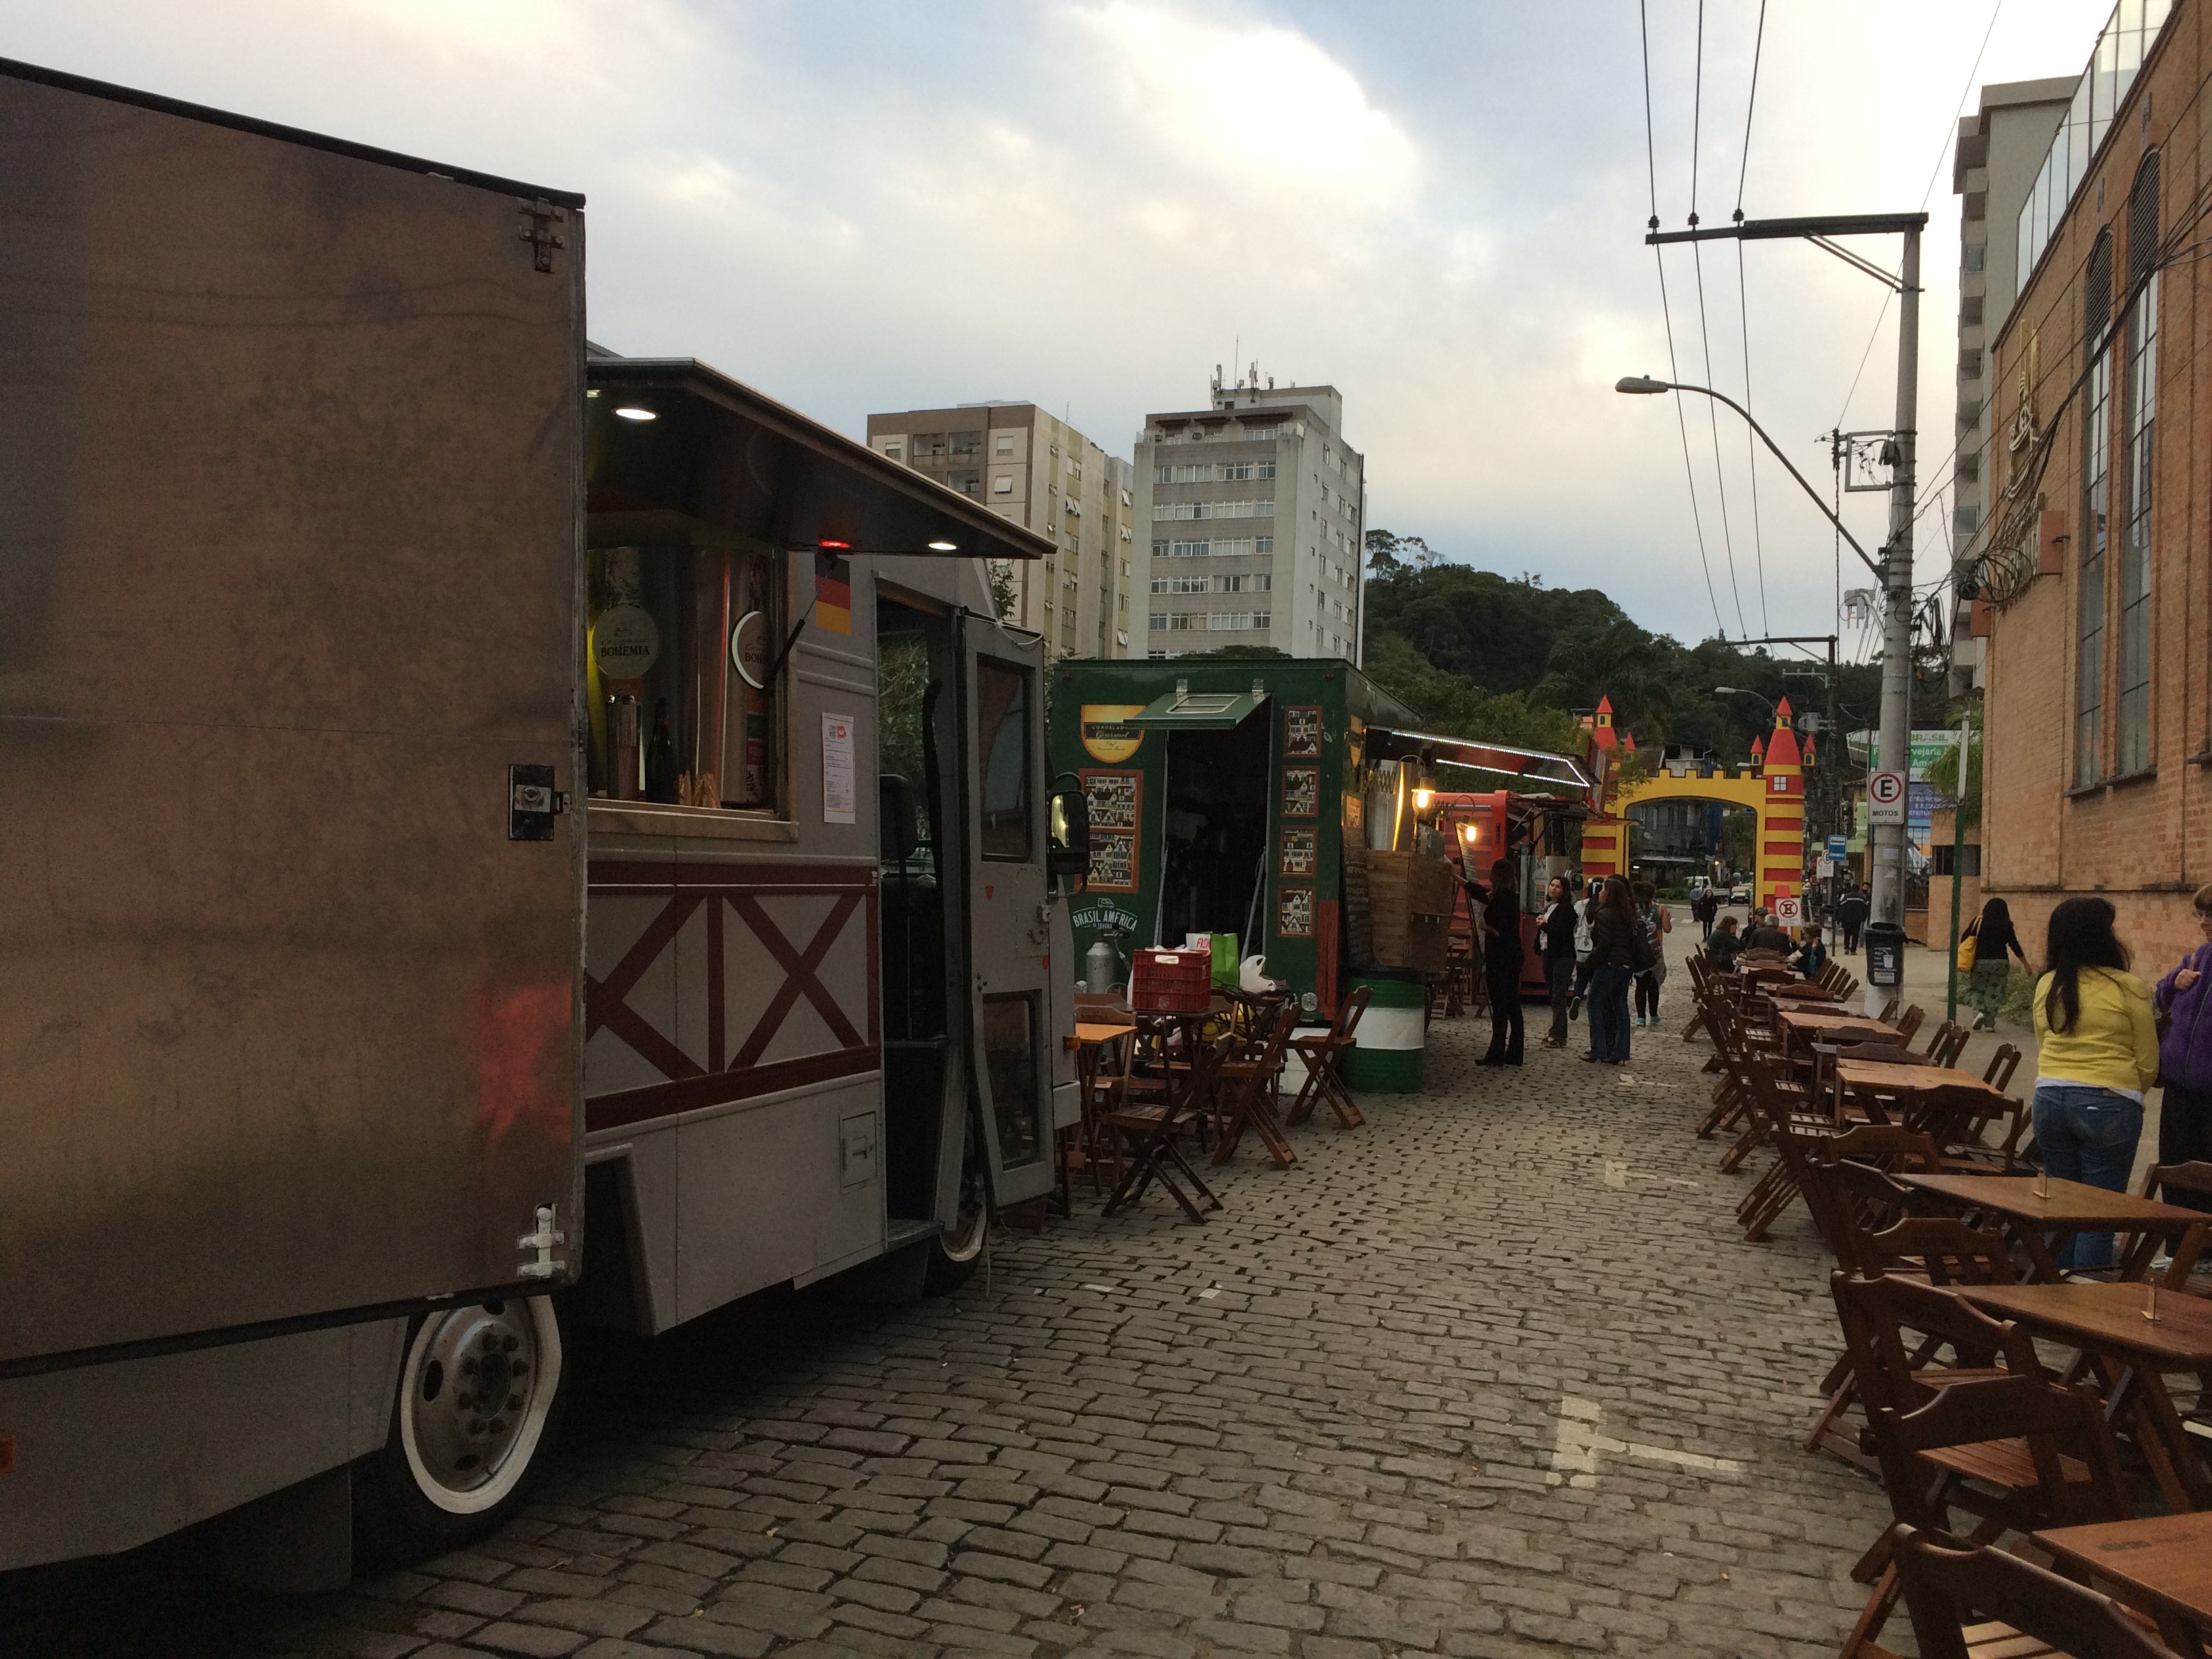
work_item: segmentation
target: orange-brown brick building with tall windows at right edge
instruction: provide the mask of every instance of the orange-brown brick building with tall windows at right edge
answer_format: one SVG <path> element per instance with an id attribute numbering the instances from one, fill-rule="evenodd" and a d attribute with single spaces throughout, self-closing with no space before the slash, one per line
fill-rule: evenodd
<path id="1" fill-rule="evenodd" d="M 2197 940 L 2212 880 L 2212 0 L 2124 0 L 2013 226 L 1991 341 L 1989 511 L 1962 575 L 1986 635 L 1984 891 L 2031 956 L 2066 896 L 2137 967 Z"/>

